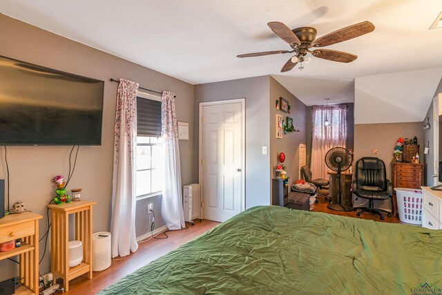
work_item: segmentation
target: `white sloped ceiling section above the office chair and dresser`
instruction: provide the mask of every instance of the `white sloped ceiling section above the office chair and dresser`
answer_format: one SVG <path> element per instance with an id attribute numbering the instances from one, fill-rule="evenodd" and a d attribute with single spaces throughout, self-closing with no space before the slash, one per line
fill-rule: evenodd
<path id="1" fill-rule="evenodd" d="M 358 77 L 354 123 L 423 122 L 442 68 Z"/>

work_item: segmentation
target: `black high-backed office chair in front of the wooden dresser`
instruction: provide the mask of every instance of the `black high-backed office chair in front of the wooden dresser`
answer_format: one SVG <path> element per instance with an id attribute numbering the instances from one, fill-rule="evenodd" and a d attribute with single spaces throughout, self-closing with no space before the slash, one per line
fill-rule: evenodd
<path id="1" fill-rule="evenodd" d="M 387 213 L 388 217 L 392 213 L 383 209 L 374 209 L 374 200 L 387 200 L 391 198 L 393 208 L 393 186 L 390 180 L 387 180 L 385 175 L 385 163 L 378 158 L 366 157 L 361 158 L 356 162 L 356 178 L 353 180 L 353 193 L 358 198 L 368 199 L 368 207 L 355 208 L 358 212 L 356 216 L 361 216 L 361 213 L 369 212 L 378 214 L 381 220 L 384 216 L 381 212 Z M 361 211 L 358 211 L 361 209 Z"/>

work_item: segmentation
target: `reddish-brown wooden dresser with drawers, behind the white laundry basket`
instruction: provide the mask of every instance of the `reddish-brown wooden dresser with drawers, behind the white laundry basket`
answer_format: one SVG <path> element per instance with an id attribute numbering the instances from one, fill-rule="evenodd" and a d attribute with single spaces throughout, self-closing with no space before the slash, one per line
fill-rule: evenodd
<path id="1" fill-rule="evenodd" d="M 392 162 L 392 184 L 393 184 L 393 215 L 397 216 L 398 207 L 394 188 L 420 189 L 423 186 L 424 164 Z"/>

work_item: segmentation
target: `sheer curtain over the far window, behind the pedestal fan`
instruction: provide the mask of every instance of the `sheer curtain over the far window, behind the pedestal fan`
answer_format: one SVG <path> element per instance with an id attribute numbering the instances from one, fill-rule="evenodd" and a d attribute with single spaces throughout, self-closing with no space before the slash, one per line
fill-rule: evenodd
<path id="1" fill-rule="evenodd" d="M 311 117 L 312 178 L 328 179 L 325 154 L 329 149 L 345 147 L 347 143 L 347 105 L 313 106 Z M 329 126 L 324 126 L 325 120 L 329 121 Z"/>

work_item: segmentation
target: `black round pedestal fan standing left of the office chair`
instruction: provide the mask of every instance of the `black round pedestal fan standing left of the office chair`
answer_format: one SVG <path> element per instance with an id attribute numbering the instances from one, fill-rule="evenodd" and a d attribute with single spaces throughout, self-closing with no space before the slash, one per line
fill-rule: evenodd
<path id="1" fill-rule="evenodd" d="M 330 170 L 336 171 L 336 179 L 338 180 L 339 185 L 339 203 L 338 204 L 328 204 L 327 208 L 332 209 L 334 211 L 352 211 L 353 208 L 342 204 L 342 190 L 340 188 L 340 173 L 349 169 L 352 166 L 352 154 L 343 147 L 336 147 L 330 149 L 325 154 L 325 164 L 329 167 Z"/>

